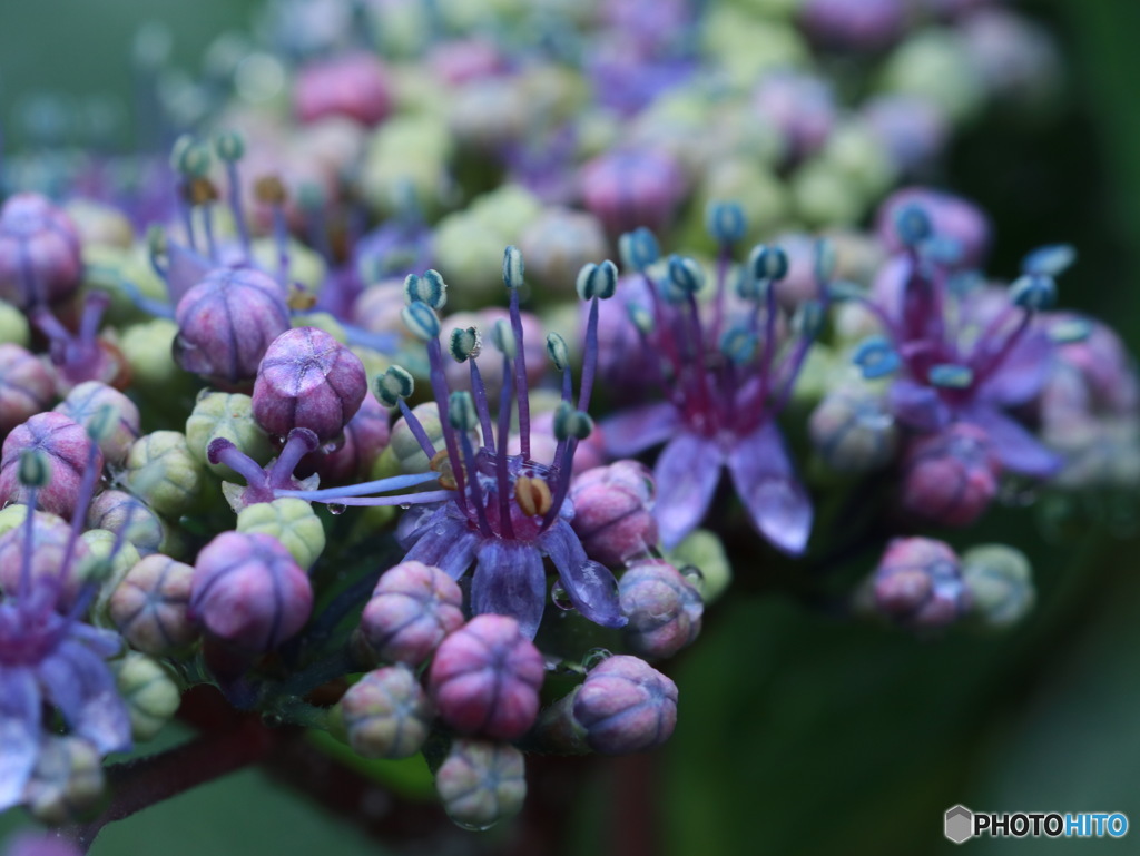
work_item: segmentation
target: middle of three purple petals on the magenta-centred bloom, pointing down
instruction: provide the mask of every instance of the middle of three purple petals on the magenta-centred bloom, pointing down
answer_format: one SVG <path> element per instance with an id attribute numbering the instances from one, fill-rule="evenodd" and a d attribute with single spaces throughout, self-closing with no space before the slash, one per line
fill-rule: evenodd
<path id="1" fill-rule="evenodd" d="M 676 435 L 662 449 L 653 468 L 653 514 L 666 547 L 677 546 L 705 517 L 720 480 L 723 460 L 715 442 L 690 433 Z"/>

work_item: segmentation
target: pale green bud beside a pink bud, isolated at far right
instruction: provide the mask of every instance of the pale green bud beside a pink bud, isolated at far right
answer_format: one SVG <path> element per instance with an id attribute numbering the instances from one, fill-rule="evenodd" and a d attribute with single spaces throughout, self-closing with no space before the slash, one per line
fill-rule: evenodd
<path id="1" fill-rule="evenodd" d="M 1004 544 L 985 544 L 963 553 L 962 581 L 970 594 L 970 617 L 993 630 L 1020 621 L 1037 600 L 1029 560 Z"/>

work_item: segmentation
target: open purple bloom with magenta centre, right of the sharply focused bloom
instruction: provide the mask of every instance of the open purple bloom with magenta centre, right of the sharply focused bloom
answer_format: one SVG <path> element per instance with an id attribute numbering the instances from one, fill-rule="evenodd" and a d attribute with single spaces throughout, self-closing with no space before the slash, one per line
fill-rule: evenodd
<path id="1" fill-rule="evenodd" d="M 652 242 L 644 231 L 626 237 L 645 246 Z M 619 413 L 602 427 L 616 457 L 666 443 L 653 473 L 662 544 L 676 546 L 700 525 L 727 468 L 756 529 L 776 548 L 803 553 L 812 503 L 775 418 L 791 399 L 822 303 L 804 303 L 793 325 L 798 331 L 781 333 L 776 288 L 787 259 L 779 250 L 754 253 L 730 303 L 728 242 L 723 242 L 716 293 L 705 307 L 697 302 L 701 274 L 692 260 L 673 256 L 668 278 L 657 282 L 636 252 L 627 255 L 642 269 L 651 302 L 634 305 L 630 319 L 657 360 L 666 400 Z M 650 256 L 643 261 L 651 263 L 656 252 Z"/>

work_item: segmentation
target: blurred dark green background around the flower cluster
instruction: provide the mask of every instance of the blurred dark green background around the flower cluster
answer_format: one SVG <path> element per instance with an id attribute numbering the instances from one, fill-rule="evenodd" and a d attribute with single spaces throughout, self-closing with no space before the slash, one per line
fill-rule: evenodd
<path id="1" fill-rule="evenodd" d="M 3 3 L 5 127 L 30 92 L 129 92 L 131 40 L 144 19 L 170 26 L 174 60 L 190 70 L 220 31 L 245 26 L 254 6 Z M 983 116 L 954 145 L 946 185 L 991 213 L 997 274 L 1012 271 L 1032 246 L 1074 244 L 1080 261 L 1062 279 L 1062 301 L 1107 318 L 1135 351 L 1140 3 L 1035 0 L 1021 8 L 1062 46 L 1065 106 L 1040 127 L 1013 125 L 1001 111 Z M 700 643 L 671 668 L 681 718 L 663 751 L 544 774 L 540 786 L 562 789 L 562 820 L 575 831 L 570 850 L 948 853 L 942 813 L 958 802 L 993 812 L 1124 812 L 1140 824 L 1134 509 L 1106 505 L 1077 519 L 1037 511 L 1001 509 L 971 535 L 974 543 L 1017 544 L 1034 563 L 1039 609 L 1004 636 L 922 643 L 771 595 L 738 590 L 720 601 Z M 747 577 L 748 557 L 736 562 L 738 579 Z M 422 778 L 413 772 L 408 788 Z M 19 822 L 0 818 L 0 835 Z M 978 854 L 1041 846 L 969 845 Z M 342 856 L 386 851 L 274 777 L 246 772 L 112 825 L 92 854 L 292 856 L 318 847 Z M 1115 840 L 1062 847 L 1127 849 Z"/>

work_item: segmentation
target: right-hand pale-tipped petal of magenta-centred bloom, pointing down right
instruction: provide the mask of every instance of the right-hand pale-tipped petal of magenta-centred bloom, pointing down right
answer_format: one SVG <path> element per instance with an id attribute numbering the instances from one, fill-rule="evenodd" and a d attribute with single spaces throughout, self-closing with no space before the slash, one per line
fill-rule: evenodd
<path id="1" fill-rule="evenodd" d="M 775 423 L 764 422 L 736 443 L 728 472 L 752 525 L 772 546 L 800 555 L 812 533 L 812 499 L 796 478 Z"/>

